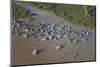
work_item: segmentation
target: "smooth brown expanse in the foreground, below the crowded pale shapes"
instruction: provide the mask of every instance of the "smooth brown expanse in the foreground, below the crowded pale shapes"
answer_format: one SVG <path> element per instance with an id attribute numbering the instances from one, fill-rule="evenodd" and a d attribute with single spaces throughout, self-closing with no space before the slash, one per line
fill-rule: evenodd
<path id="1" fill-rule="evenodd" d="M 56 50 L 56 44 L 64 44 L 64 48 Z M 45 49 L 40 54 L 33 56 L 35 48 Z M 95 60 L 95 42 L 90 40 L 86 43 L 69 44 L 66 40 L 37 41 L 35 38 L 22 38 L 12 36 L 12 64 L 43 64 L 73 61 Z M 76 58 L 74 56 L 79 54 Z"/>

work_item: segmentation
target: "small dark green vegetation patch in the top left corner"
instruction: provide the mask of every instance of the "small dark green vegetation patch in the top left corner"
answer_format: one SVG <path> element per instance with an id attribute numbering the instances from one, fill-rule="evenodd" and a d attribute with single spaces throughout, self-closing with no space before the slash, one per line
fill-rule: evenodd
<path id="1" fill-rule="evenodd" d="M 12 3 L 12 18 L 17 19 L 17 18 L 25 18 L 28 16 L 28 12 L 21 8 L 19 5 L 16 3 Z"/>

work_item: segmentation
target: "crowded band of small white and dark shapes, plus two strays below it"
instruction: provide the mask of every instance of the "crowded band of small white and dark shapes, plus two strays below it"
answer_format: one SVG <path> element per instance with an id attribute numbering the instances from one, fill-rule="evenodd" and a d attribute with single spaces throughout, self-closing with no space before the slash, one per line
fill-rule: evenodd
<path id="1" fill-rule="evenodd" d="M 23 38 L 35 37 L 41 41 L 66 39 L 68 43 L 85 42 L 90 34 L 84 29 L 75 29 L 63 23 L 42 22 L 34 25 L 33 22 L 21 20 L 13 21 L 11 31 L 13 34 Z M 55 49 L 62 49 L 63 47 L 63 44 L 55 45 Z M 38 49 L 34 49 L 33 55 L 37 54 Z"/>

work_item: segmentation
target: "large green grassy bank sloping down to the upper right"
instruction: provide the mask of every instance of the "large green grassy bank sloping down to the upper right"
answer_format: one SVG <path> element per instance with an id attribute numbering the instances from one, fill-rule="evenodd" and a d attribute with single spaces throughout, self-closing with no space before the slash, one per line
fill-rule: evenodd
<path id="1" fill-rule="evenodd" d="M 66 4 L 49 4 L 24 2 L 31 7 L 37 7 L 46 10 L 51 14 L 55 14 L 67 21 L 77 25 L 82 25 L 88 28 L 95 28 L 96 26 L 96 7 L 87 5 L 66 5 Z M 92 14 L 92 15 L 91 15 Z"/>

